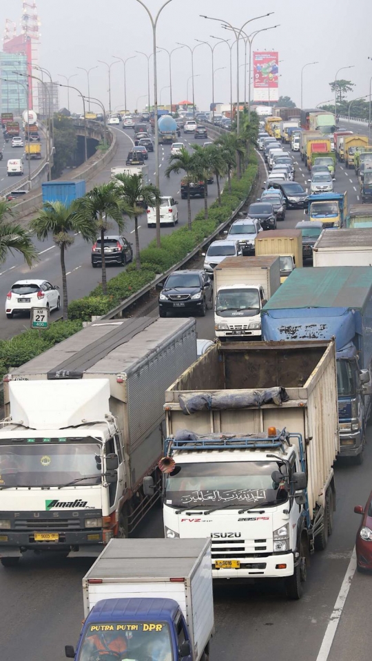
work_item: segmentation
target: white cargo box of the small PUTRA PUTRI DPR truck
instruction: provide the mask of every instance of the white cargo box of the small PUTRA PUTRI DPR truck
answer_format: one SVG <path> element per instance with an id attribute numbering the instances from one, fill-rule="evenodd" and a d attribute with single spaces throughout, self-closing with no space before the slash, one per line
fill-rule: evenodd
<path id="1" fill-rule="evenodd" d="M 142 609 L 156 599 L 176 601 L 198 661 L 214 631 L 210 538 L 110 541 L 83 578 L 87 623 L 97 603 L 133 598 L 141 599 Z"/>

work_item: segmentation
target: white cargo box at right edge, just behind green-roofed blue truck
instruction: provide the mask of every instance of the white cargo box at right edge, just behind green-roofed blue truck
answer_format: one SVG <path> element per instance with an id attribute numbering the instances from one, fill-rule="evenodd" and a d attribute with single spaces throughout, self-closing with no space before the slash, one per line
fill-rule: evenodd
<path id="1" fill-rule="evenodd" d="M 324 229 L 313 246 L 313 266 L 372 266 L 372 227 Z"/>

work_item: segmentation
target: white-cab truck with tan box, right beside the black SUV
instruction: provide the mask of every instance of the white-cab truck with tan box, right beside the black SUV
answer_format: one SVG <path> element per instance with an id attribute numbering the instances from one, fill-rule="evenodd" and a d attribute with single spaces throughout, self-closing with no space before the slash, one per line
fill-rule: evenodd
<path id="1" fill-rule="evenodd" d="M 229 257 L 214 269 L 214 329 L 228 337 L 261 337 L 261 309 L 280 286 L 280 260 Z"/>

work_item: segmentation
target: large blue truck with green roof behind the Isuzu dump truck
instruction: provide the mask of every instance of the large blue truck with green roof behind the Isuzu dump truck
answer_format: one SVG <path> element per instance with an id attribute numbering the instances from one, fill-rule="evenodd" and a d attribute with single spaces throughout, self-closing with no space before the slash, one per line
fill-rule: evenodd
<path id="1" fill-rule="evenodd" d="M 296 269 L 262 309 L 262 339 L 335 337 L 340 454 L 362 463 L 371 413 L 372 269 Z"/>

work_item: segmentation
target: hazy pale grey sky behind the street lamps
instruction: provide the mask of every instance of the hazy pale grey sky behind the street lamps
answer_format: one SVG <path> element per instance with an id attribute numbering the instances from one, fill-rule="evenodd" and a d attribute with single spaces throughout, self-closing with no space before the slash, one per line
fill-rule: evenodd
<path id="1" fill-rule="evenodd" d="M 99 65 L 90 74 L 90 94 L 101 98 L 108 107 L 107 67 L 99 59 L 112 62 L 113 55 L 123 58 L 136 50 L 152 52 L 152 28 L 145 9 L 136 0 L 36 0 L 41 21 L 39 64 L 48 67 L 55 79 L 64 82 L 58 74 L 77 74 L 70 81 L 87 92 L 85 68 Z M 156 13 L 163 0 L 147 0 L 149 10 Z M 355 10 L 349 0 L 267 0 L 265 3 L 251 0 L 172 0 L 158 20 L 157 43 L 171 50 L 177 41 L 196 45 L 195 39 L 215 43 L 210 35 L 229 38 L 227 30 L 216 21 L 199 17 L 200 13 L 223 18 L 241 27 L 245 21 L 259 14 L 275 12 L 272 16 L 253 21 L 245 30 L 254 30 L 280 23 L 280 27 L 258 34 L 252 50 L 278 50 L 280 63 L 279 94 L 289 95 L 300 105 L 301 67 L 313 60 L 318 65 L 304 70 L 304 107 L 312 107 L 327 101 L 332 94 L 328 83 L 335 78 L 338 68 L 355 65 L 340 72 L 353 81 L 353 96 L 369 94 L 372 76 L 371 0 L 358 0 Z M 21 0 L 0 0 L 0 30 L 6 19 L 17 22 L 21 18 Z M 244 45 L 240 46 L 240 62 L 244 62 Z M 229 103 L 229 48 L 218 45 L 215 50 L 216 73 L 215 101 Z M 233 85 L 236 99 L 236 50 L 233 52 Z M 152 60 L 150 60 L 151 62 Z M 112 67 L 112 108 L 124 107 L 123 64 Z M 165 52 L 158 54 L 158 92 L 169 85 L 169 59 Z M 200 109 L 208 109 L 211 103 L 211 53 L 200 45 L 194 53 L 195 99 Z M 191 55 L 183 48 L 172 56 L 173 102 L 185 98 L 187 78 L 191 76 Z M 244 67 L 240 68 L 240 101 L 244 96 Z M 152 80 L 152 78 L 151 78 Z M 152 84 L 152 83 L 151 83 Z M 127 105 L 130 109 L 143 108 L 147 102 L 147 60 L 143 55 L 127 63 Z M 158 101 L 160 94 L 158 94 Z M 191 81 L 189 98 L 192 96 Z M 153 98 L 153 96 L 152 96 Z M 351 97 L 352 98 L 352 97 Z M 169 89 L 161 93 L 162 103 L 169 103 Z M 67 105 L 67 90 L 61 88 L 60 105 Z M 70 108 L 81 112 L 79 97 L 71 92 Z M 98 109 L 97 109 L 98 112 Z"/>

